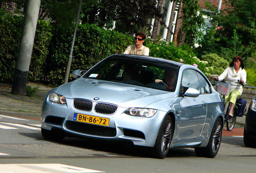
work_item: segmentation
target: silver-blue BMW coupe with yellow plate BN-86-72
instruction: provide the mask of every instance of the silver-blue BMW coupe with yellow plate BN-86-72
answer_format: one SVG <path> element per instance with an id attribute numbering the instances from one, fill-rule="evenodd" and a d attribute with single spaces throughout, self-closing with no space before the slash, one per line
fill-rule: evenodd
<path id="1" fill-rule="evenodd" d="M 164 158 L 170 148 L 192 147 L 215 157 L 221 144 L 224 104 L 196 67 L 149 56 L 111 55 L 76 80 L 45 96 L 41 133 L 132 141 Z"/>

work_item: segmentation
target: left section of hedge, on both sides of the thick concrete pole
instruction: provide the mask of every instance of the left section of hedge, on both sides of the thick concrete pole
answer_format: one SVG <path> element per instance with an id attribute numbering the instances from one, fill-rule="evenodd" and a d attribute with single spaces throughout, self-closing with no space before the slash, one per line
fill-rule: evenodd
<path id="1" fill-rule="evenodd" d="M 23 16 L 11 15 L 0 10 L 0 81 L 12 83 L 19 52 Z M 31 56 L 28 80 L 42 82 L 44 79 L 45 59 L 51 40 L 50 22 L 38 21 L 33 52 Z"/>

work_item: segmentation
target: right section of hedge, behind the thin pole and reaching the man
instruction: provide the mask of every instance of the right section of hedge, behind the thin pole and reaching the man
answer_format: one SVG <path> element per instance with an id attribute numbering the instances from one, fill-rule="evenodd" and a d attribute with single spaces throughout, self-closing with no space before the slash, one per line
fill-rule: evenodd
<path id="1" fill-rule="evenodd" d="M 54 30 L 44 70 L 45 76 L 49 76 L 47 84 L 57 86 L 63 83 L 71 42 L 71 30 L 66 33 Z M 116 31 L 104 30 L 94 24 L 78 25 L 70 71 L 89 70 L 103 58 L 123 53 L 133 43 L 131 36 Z"/>

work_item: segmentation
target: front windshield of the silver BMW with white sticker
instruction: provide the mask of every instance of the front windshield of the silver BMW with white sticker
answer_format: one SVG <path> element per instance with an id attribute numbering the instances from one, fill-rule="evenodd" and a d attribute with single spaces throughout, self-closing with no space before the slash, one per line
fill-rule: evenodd
<path id="1" fill-rule="evenodd" d="M 178 67 L 173 64 L 139 58 L 106 58 L 91 68 L 83 78 L 107 80 L 164 91 L 174 91 Z M 155 82 L 156 79 L 163 82 Z"/>

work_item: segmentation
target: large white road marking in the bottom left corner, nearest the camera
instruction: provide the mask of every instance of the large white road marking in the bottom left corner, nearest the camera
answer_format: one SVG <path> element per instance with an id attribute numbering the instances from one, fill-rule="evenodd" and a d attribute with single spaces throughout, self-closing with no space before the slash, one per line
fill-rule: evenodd
<path id="1" fill-rule="evenodd" d="M 0 173 L 104 173 L 93 169 L 70 165 L 45 164 L 0 164 Z"/>

